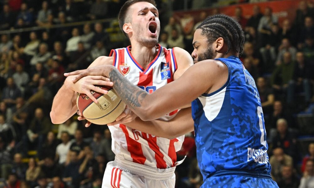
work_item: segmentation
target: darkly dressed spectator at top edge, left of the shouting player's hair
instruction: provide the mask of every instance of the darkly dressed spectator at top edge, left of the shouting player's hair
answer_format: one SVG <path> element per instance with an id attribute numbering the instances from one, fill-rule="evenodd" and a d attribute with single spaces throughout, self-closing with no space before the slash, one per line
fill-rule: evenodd
<path id="1" fill-rule="evenodd" d="M 103 19 L 107 16 L 108 13 L 108 4 L 102 0 L 96 0 L 90 7 L 89 18 L 94 19 Z"/>

